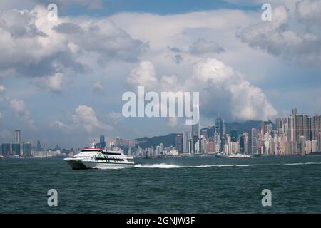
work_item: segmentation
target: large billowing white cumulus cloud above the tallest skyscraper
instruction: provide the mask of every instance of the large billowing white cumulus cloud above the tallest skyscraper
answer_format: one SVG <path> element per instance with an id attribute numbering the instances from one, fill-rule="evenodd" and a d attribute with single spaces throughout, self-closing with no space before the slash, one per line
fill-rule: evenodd
<path id="1" fill-rule="evenodd" d="M 158 93 L 198 91 L 200 92 L 200 114 L 208 118 L 220 114 L 228 120 L 268 120 L 277 115 L 277 110 L 273 108 L 263 90 L 253 86 L 238 71 L 215 58 L 207 58 L 195 63 L 191 69 L 193 74 L 184 80 L 180 80 L 175 75 L 161 76 L 158 79 L 153 63 L 148 62 L 146 68 L 142 68 L 142 65 L 144 64 L 141 63 L 136 67 L 135 72 L 139 69 L 138 75 L 146 79 L 141 80 L 141 83 L 138 83 L 140 80 L 136 80 L 136 86 L 148 86 L 148 90 Z M 142 69 L 153 70 L 142 73 Z M 132 80 L 133 76 L 128 78 Z M 173 125 L 176 122 L 176 120 L 170 120 L 169 123 Z"/>

